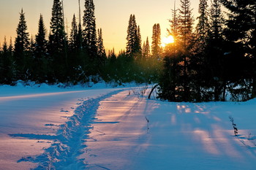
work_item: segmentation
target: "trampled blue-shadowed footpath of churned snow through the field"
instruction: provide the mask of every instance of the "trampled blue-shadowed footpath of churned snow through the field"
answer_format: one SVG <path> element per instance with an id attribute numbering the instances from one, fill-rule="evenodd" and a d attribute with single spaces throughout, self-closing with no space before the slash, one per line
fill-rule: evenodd
<path id="1" fill-rule="evenodd" d="M 60 125 L 59 131 L 56 135 L 37 135 L 37 134 L 10 134 L 15 137 L 26 137 L 29 139 L 39 140 L 54 140 L 48 149 L 42 155 L 37 155 L 36 158 L 21 158 L 20 161 L 31 161 L 39 163 L 35 169 L 84 169 L 85 163 L 83 159 L 77 160 L 77 156 L 85 145 L 83 141 L 88 138 L 89 123 L 94 118 L 94 114 L 99 107 L 99 101 L 104 98 L 118 93 L 119 90 L 107 95 L 91 98 L 83 101 L 77 109 L 75 114 L 69 117 L 69 120 Z"/>

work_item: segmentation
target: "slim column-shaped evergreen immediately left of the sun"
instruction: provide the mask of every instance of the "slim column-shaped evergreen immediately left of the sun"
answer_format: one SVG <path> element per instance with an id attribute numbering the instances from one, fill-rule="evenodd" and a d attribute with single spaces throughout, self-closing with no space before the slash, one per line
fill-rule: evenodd
<path id="1" fill-rule="evenodd" d="M 161 28 L 159 23 L 155 23 L 153 26 L 152 34 L 152 45 L 151 52 L 154 58 L 159 58 L 161 56 Z"/>

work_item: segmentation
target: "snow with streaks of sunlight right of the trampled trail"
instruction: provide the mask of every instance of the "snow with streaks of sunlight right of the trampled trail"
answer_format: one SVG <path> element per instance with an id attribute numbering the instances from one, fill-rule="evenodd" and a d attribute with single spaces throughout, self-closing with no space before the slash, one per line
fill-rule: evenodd
<path id="1" fill-rule="evenodd" d="M 256 169 L 255 144 L 246 140 L 244 130 L 233 136 L 228 119 L 233 115 L 242 125 L 237 118 L 246 116 L 243 104 L 169 103 L 128 94 L 123 91 L 100 102 L 80 156 L 88 163 L 86 169 Z M 249 129 L 256 132 L 253 124 Z"/>

